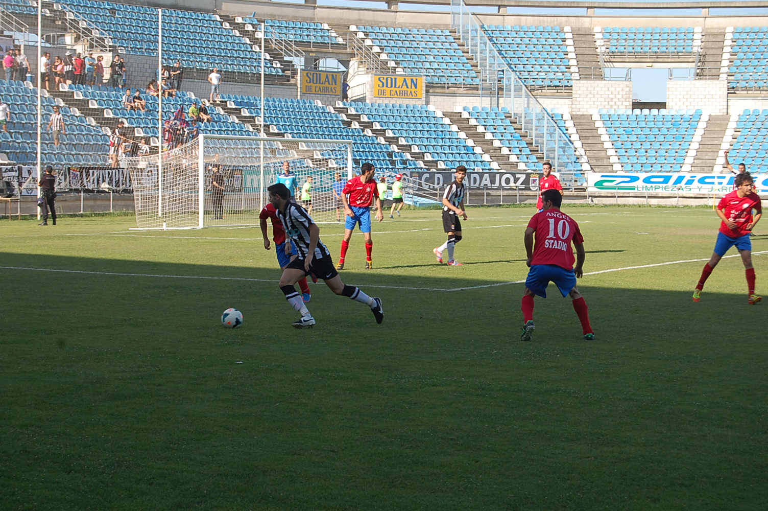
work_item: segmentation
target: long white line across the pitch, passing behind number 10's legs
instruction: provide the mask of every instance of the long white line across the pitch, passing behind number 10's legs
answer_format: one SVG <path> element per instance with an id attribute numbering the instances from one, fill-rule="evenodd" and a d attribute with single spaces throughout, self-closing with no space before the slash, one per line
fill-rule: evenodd
<path id="1" fill-rule="evenodd" d="M 762 254 L 768 254 L 768 251 L 760 251 L 760 252 L 753 252 L 752 255 L 762 255 Z M 740 254 L 733 254 L 729 256 L 724 256 L 723 259 L 727 259 L 730 257 L 741 257 Z M 682 264 L 682 263 L 697 263 L 700 261 L 709 260 L 707 257 L 706 259 L 684 259 L 684 260 L 672 260 L 667 261 L 666 263 L 655 263 L 655 264 L 642 264 L 640 266 L 627 266 L 627 267 L 621 267 L 621 268 L 611 268 L 610 270 L 598 270 L 598 271 L 589 271 L 585 273 L 584 275 L 597 275 L 597 274 L 607 274 L 613 271 L 624 271 L 624 270 L 637 270 L 640 268 L 652 268 L 657 266 L 667 266 L 668 264 Z M 162 275 L 162 274 L 124 274 L 124 273 L 116 273 L 111 271 L 86 271 L 86 270 L 58 270 L 54 268 L 31 268 L 31 267 L 20 267 L 20 266 L 0 266 L 0 269 L 3 270 L 28 270 L 28 271 L 50 271 L 55 273 L 65 273 L 65 274 L 88 274 L 88 275 L 111 275 L 116 277 L 159 277 L 159 278 L 177 278 L 177 279 L 203 279 L 203 280 L 240 280 L 245 282 L 271 282 L 275 283 L 278 280 L 270 280 L 270 279 L 255 279 L 255 278 L 247 278 L 247 277 L 201 277 L 197 275 Z M 382 289 L 403 289 L 403 290 L 419 290 L 419 291 L 465 291 L 465 290 L 472 290 L 472 289 L 484 289 L 486 287 L 499 287 L 499 286 L 508 286 L 510 284 L 523 284 L 525 283 L 525 280 L 511 280 L 509 282 L 497 282 L 496 284 L 484 284 L 481 286 L 468 286 L 468 287 L 452 287 L 449 289 L 445 289 L 442 287 L 405 287 L 405 286 L 381 286 L 381 285 L 372 285 L 372 284 L 366 284 L 363 287 L 377 287 Z"/>

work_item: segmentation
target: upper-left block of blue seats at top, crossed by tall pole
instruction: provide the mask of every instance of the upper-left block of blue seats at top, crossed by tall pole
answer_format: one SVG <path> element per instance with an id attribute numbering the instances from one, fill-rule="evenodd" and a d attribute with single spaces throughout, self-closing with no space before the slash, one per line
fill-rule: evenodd
<path id="1" fill-rule="evenodd" d="M 59 4 L 108 35 L 121 51 L 157 55 L 157 9 L 95 0 L 61 0 Z M 187 68 L 215 65 L 220 71 L 253 74 L 260 72 L 262 58 L 249 41 L 224 28 L 216 15 L 170 9 L 163 10 L 163 56 L 167 65 L 180 60 Z M 267 74 L 283 72 L 269 58 L 264 65 Z"/>

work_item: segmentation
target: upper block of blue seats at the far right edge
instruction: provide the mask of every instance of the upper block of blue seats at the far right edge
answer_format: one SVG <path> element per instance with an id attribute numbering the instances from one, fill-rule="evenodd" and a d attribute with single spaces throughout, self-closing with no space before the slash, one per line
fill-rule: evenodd
<path id="1" fill-rule="evenodd" d="M 726 35 L 727 37 L 728 35 Z M 736 27 L 731 36 L 728 71 L 730 88 L 766 88 L 768 85 L 768 27 Z"/>

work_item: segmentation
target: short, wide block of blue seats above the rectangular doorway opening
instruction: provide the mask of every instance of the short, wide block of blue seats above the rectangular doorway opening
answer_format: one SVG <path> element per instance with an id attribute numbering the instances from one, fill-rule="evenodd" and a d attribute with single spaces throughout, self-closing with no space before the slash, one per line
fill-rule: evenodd
<path id="1" fill-rule="evenodd" d="M 692 54 L 701 46 L 701 27 L 595 27 L 598 46 L 611 54 Z"/>

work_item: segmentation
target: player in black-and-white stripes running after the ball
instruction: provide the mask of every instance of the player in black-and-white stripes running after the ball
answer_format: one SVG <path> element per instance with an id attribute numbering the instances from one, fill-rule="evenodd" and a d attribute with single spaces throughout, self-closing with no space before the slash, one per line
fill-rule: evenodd
<path id="1" fill-rule="evenodd" d="M 339 273 L 333 267 L 333 259 L 328 247 L 320 241 L 320 228 L 312 220 L 303 207 L 290 201 L 290 193 L 286 185 L 273 184 L 266 189 L 270 194 L 270 204 L 276 211 L 277 217 L 283 222 L 283 229 L 293 241 L 296 248 L 296 257 L 290 261 L 280 277 L 280 290 L 286 296 L 286 300 L 296 309 L 301 318 L 293 322 L 295 328 L 308 328 L 315 325 L 315 318 L 306 309 L 296 293 L 296 282 L 309 274 L 315 274 L 326 282 L 326 286 L 334 293 L 359 301 L 371 308 L 376 323 L 384 320 L 382 300 L 369 297 L 358 287 L 344 284 Z"/>

